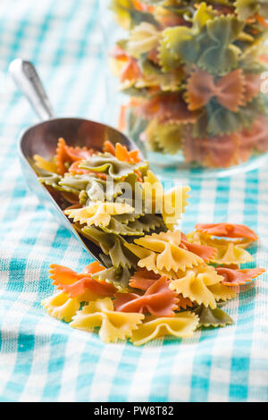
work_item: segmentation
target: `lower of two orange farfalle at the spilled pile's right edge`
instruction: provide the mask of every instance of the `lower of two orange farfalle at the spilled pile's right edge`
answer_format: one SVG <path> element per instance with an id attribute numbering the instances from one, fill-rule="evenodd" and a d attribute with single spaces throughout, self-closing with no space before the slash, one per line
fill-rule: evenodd
<path id="1" fill-rule="evenodd" d="M 242 270 L 233 270 L 227 267 L 217 267 L 216 272 L 224 278 L 222 284 L 225 286 L 242 286 L 252 281 L 258 275 L 265 272 L 264 268 L 245 268 Z"/>

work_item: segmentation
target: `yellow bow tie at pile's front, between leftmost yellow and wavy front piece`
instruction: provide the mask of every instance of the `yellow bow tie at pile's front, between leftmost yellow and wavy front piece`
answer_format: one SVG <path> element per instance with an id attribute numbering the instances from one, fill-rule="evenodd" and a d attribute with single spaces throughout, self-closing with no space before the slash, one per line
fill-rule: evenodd
<path id="1" fill-rule="evenodd" d="M 104 342 L 116 342 L 132 336 L 138 324 L 144 319 L 142 314 L 126 314 L 113 310 L 111 298 L 90 302 L 73 316 L 71 327 L 92 332 L 100 327 L 99 336 Z"/>

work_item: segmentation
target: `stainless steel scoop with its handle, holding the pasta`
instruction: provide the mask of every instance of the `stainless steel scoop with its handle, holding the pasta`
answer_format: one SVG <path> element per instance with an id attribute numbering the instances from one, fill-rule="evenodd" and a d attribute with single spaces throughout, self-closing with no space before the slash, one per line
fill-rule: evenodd
<path id="1" fill-rule="evenodd" d="M 71 222 L 63 214 L 54 197 L 38 181 L 38 175 L 33 169 L 33 156 L 41 155 L 46 159 L 51 158 L 55 153 L 57 141 L 60 137 L 66 139 L 67 144 L 72 147 L 86 146 L 101 150 L 107 139 L 113 145 L 119 142 L 128 147 L 129 150 L 138 149 L 138 147 L 120 131 L 108 125 L 80 118 L 54 118 L 53 108 L 32 63 L 16 59 L 10 64 L 9 71 L 18 88 L 28 98 L 29 103 L 43 121 L 24 130 L 20 137 L 19 155 L 21 169 L 29 189 L 38 196 L 41 204 L 47 206 L 59 222 L 63 223 L 71 231 L 80 241 L 83 248 L 96 260 L 104 264 L 99 256 L 101 249 L 90 240 L 81 236 L 72 227 Z M 141 153 L 140 156 L 142 157 Z"/>

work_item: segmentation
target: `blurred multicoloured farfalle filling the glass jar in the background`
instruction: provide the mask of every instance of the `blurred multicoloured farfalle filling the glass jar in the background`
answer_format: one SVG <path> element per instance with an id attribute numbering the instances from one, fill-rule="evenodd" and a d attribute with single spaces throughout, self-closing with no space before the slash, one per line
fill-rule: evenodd
<path id="1" fill-rule="evenodd" d="M 130 96 L 121 130 L 198 166 L 268 150 L 265 1 L 111 0 L 111 8 L 128 31 L 111 52 Z"/>

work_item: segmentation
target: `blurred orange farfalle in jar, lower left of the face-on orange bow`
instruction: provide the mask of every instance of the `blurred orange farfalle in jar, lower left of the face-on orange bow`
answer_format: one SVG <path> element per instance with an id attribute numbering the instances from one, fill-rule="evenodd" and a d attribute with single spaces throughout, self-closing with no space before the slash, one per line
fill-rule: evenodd
<path id="1" fill-rule="evenodd" d="M 148 120 L 155 119 L 159 123 L 188 124 L 196 122 L 197 114 L 188 111 L 187 104 L 178 93 L 155 95 L 137 106 L 137 113 Z"/>

